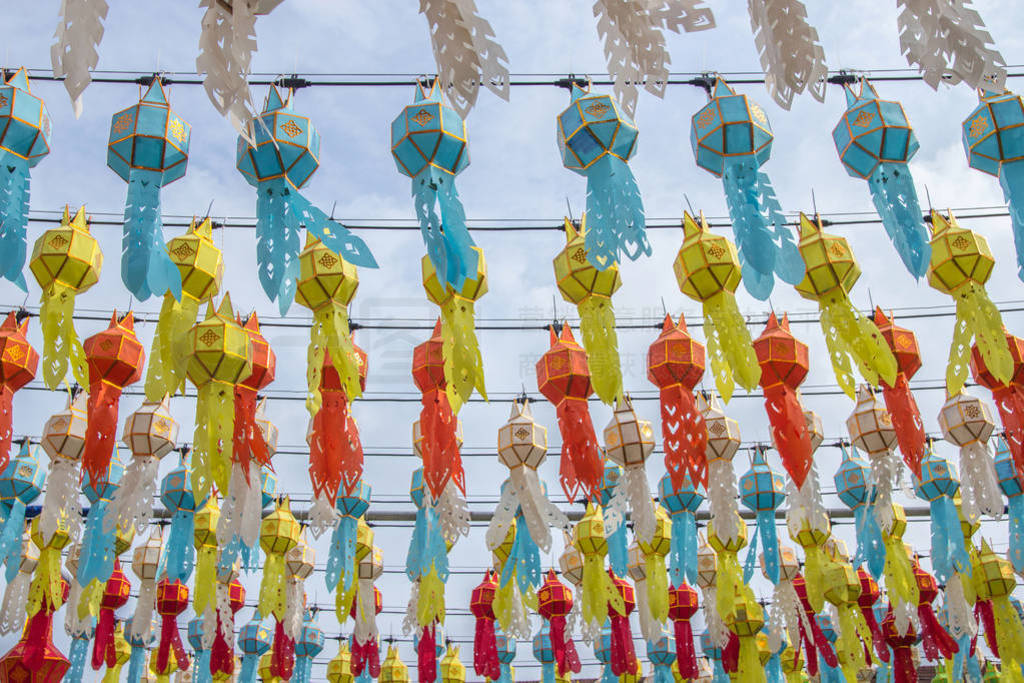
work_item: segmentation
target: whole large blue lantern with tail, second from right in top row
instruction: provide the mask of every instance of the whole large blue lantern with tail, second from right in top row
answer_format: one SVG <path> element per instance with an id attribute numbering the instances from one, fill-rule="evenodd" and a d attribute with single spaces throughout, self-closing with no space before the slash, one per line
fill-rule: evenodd
<path id="1" fill-rule="evenodd" d="M 846 112 L 833 130 L 833 140 L 846 172 L 867 180 L 874 209 L 914 278 L 928 270 L 931 236 L 925 227 L 918 190 L 907 162 L 918 153 L 918 138 L 903 105 L 879 99 L 867 79 L 860 93 L 846 85 Z"/>

